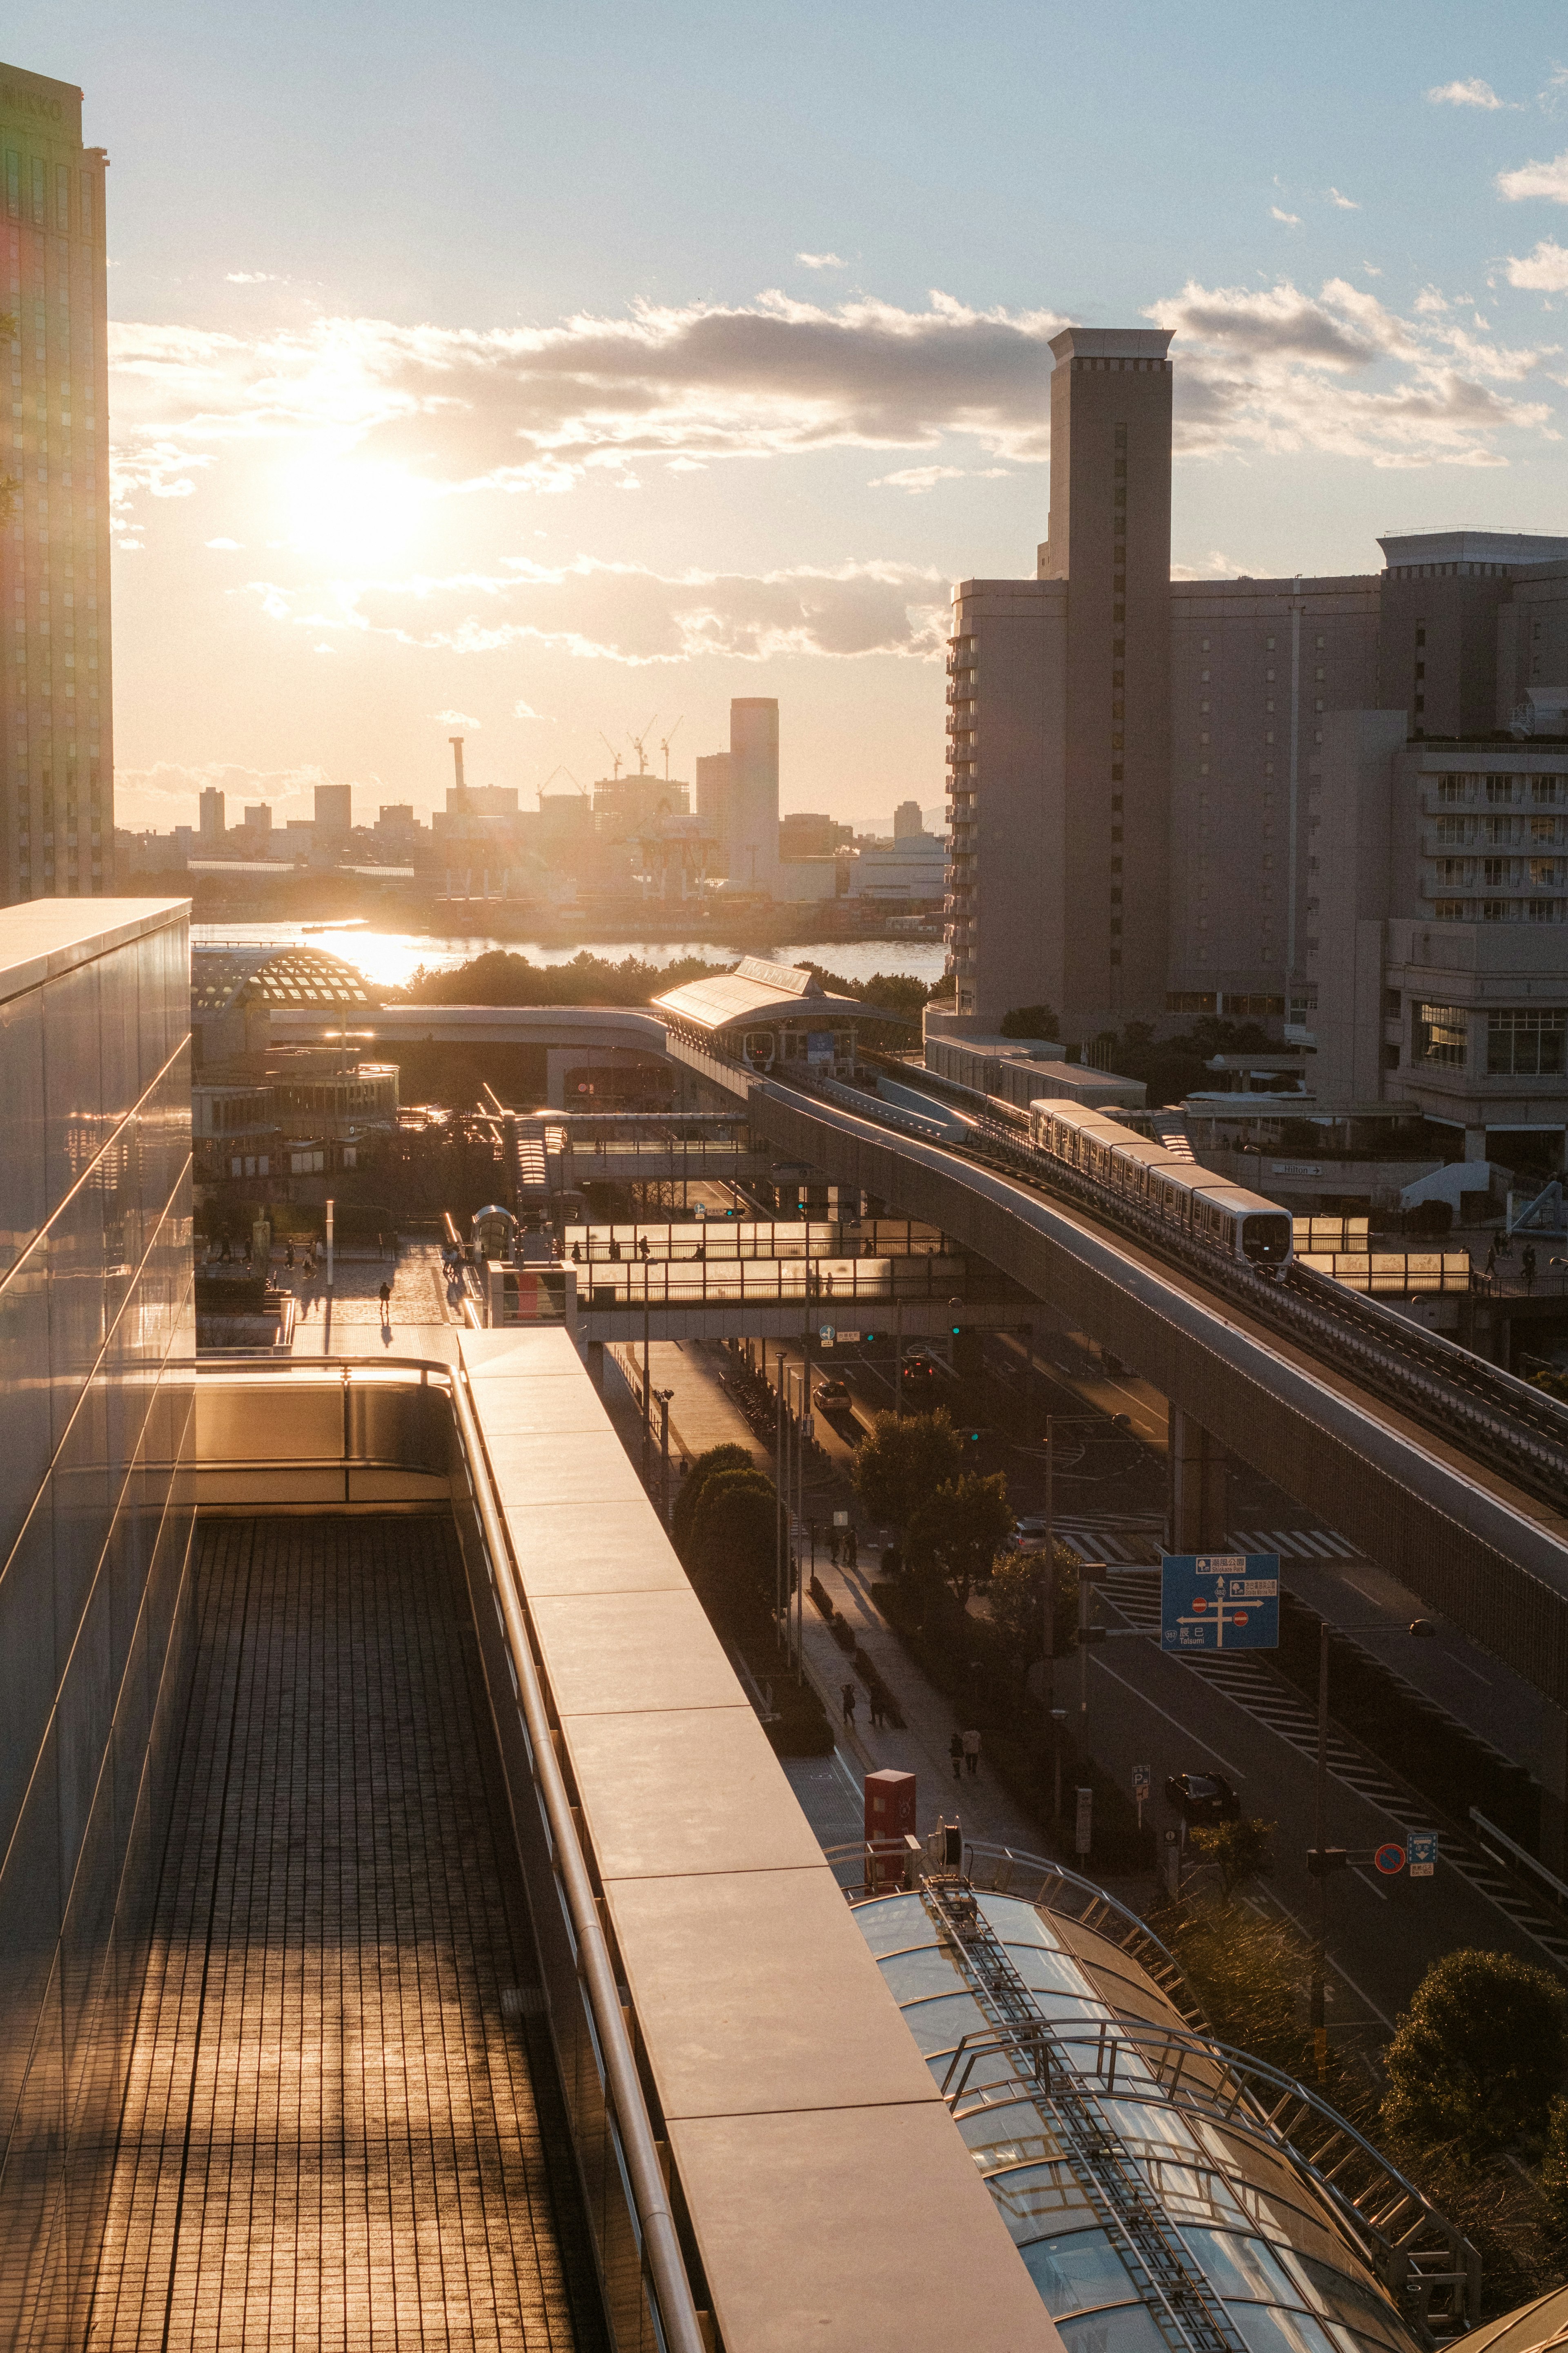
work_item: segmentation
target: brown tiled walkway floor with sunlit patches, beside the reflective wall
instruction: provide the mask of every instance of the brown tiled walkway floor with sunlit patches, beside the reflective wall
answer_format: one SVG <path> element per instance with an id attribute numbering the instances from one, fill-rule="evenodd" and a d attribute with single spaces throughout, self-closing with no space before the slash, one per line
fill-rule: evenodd
<path id="1" fill-rule="evenodd" d="M 212 1522 L 197 1607 L 87 2344 L 602 2346 L 449 1522 Z"/>

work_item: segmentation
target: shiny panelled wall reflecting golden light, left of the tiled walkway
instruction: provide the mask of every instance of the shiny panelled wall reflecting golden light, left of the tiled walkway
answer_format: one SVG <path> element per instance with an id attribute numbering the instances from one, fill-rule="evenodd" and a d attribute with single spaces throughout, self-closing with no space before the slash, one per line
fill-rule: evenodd
<path id="1" fill-rule="evenodd" d="M 183 906 L 0 913 L 0 2344 L 87 2329 L 190 1652 Z"/>

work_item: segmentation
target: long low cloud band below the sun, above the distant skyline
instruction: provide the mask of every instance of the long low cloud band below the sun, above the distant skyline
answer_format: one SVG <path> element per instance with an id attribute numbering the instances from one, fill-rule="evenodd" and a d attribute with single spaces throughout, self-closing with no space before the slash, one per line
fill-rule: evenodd
<path id="1" fill-rule="evenodd" d="M 562 567 L 510 558 L 501 572 L 341 586 L 339 628 L 423 652 L 484 656 L 522 645 L 628 666 L 893 654 L 938 661 L 950 626 L 947 576 L 919 565 L 661 574 L 578 555 Z M 252 581 L 273 621 L 320 626 L 306 591 Z M 315 602 L 317 591 L 310 591 Z M 301 607 L 301 609 L 296 609 Z"/>

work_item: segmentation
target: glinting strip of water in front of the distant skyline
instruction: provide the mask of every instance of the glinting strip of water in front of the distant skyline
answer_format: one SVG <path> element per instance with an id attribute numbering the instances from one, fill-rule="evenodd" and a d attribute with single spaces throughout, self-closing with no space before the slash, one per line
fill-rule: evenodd
<path id="1" fill-rule="evenodd" d="M 715 939 L 578 939 L 571 946 L 538 939 L 454 939 L 433 932 L 376 932 L 367 922 L 303 925 L 303 922 L 244 922 L 214 925 L 195 922 L 190 944 L 195 948 L 256 946 L 292 948 L 308 941 L 341 955 L 346 965 L 362 972 L 378 988 L 402 988 L 423 967 L 425 972 L 451 972 L 473 962 L 491 948 L 527 955 L 531 965 L 569 965 L 574 955 L 602 955 L 618 965 L 625 955 L 637 955 L 646 965 L 672 965 L 686 955 L 701 955 L 708 965 L 733 965 L 738 948 L 726 948 Z M 795 944 L 771 948 L 780 965 L 813 962 L 827 972 L 842 972 L 856 986 L 870 981 L 872 972 L 898 972 L 910 979 L 940 981 L 947 951 L 940 939 L 825 939 L 809 946 Z"/>

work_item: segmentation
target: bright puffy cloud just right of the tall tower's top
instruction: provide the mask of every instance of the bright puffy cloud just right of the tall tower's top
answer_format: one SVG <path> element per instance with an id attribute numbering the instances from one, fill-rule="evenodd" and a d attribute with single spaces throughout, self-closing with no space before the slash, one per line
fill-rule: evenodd
<path id="1" fill-rule="evenodd" d="M 1552 412 L 1493 391 L 1556 346 L 1507 348 L 1448 320 L 1403 320 L 1342 278 L 1316 296 L 1274 287 L 1201 287 L 1147 315 L 1182 339 L 1178 449 L 1328 449 L 1375 466 L 1502 466 L 1497 435 L 1540 431 Z"/>

